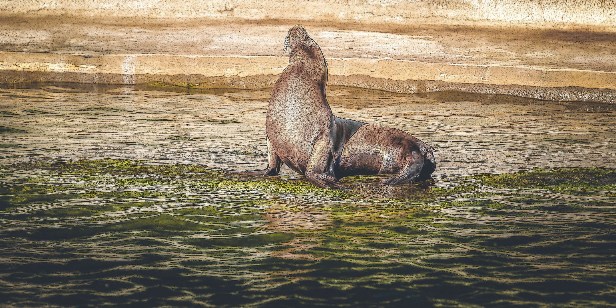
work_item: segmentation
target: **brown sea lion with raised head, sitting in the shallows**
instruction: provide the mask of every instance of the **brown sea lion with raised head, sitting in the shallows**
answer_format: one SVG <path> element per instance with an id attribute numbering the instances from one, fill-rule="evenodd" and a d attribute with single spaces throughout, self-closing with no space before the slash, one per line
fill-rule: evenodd
<path id="1" fill-rule="evenodd" d="M 325 97 L 327 61 L 300 25 L 286 34 L 289 64 L 272 88 L 265 116 L 267 168 L 224 172 L 278 175 L 282 164 L 320 188 L 339 188 L 349 175 L 394 174 L 381 184 L 409 183 L 436 168 L 434 149 L 402 130 L 331 113 Z"/>

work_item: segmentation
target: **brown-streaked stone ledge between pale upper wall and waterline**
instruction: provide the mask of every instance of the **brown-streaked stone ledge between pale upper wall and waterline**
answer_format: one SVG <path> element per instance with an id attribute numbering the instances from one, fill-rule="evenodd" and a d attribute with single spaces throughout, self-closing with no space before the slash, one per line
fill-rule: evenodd
<path id="1" fill-rule="evenodd" d="M 258 89 L 282 73 L 294 21 L 4 18 L 0 82 Z M 612 33 L 302 22 L 329 84 L 616 102 Z"/>

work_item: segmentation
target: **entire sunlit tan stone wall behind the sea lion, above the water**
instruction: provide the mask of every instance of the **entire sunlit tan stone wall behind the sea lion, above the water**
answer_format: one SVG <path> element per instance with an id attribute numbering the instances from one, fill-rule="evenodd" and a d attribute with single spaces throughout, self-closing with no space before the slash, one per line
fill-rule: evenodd
<path id="1" fill-rule="evenodd" d="M 271 87 L 301 23 L 332 85 L 615 102 L 615 11 L 607 0 L 9 0 L 0 83 Z"/>

